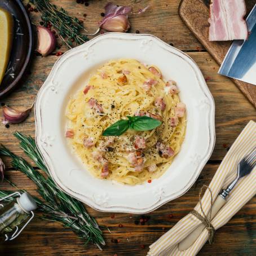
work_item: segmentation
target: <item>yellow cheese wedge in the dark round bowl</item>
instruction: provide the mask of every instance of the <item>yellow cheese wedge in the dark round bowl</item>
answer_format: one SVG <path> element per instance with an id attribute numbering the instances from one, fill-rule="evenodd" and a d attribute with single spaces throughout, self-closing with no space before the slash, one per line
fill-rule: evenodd
<path id="1" fill-rule="evenodd" d="M 0 8 L 0 85 L 10 58 L 13 29 L 14 19 L 12 19 L 12 15 Z"/>

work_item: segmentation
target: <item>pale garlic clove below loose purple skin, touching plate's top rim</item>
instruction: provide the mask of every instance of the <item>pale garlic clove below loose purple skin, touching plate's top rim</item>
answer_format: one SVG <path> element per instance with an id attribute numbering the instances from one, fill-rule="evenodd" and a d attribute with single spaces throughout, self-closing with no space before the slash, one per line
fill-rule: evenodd
<path id="1" fill-rule="evenodd" d="M 130 28 L 127 15 L 118 15 L 105 21 L 101 28 L 110 32 L 126 32 Z"/>

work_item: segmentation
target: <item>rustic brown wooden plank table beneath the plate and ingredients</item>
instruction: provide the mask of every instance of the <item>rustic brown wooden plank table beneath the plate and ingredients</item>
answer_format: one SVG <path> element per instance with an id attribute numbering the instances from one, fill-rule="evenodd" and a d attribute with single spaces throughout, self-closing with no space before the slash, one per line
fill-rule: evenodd
<path id="1" fill-rule="evenodd" d="M 1 255 L 145 255 L 148 246 L 174 226 L 181 218 L 193 209 L 198 201 L 198 192 L 202 184 L 209 184 L 213 178 L 228 147 L 234 142 L 249 120 L 255 120 L 253 105 L 241 94 L 229 78 L 219 76 L 217 63 L 192 36 L 178 15 L 180 0 L 115 0 L 117 5 L 131 5 L 134 10 L 151 5 L 147 14 L 131 17 L 131 33 L 154 34 L 163 41 L 174 45 L 193 58 L 204 74 L 216 105 L 216 144 L 213 155 L 202 170 L 196 183 L 186 195 L 173 200 L 147 216 L 149 221 L 144 226 L 137 223 L 140 215 L 100 213 L 86 206 L 89 213 L 98 220 L 100 225 L 108 226 L 111 233 L 104 231 L 107 245 L 103 251 L 95 246 L 83 246 L 76 235 L 58 223 L 34 219 L 16 240 L 1 244 Z M 100 13 L 107 1 L 89 1 L 89 6 L 76 3 L 75 0 L 53 1 L 61 4 L 71 15 L 84 20 L 85 27 L 93 32 L 101 19 Z M 253 0 L 249 1 L 251 6 Z M 84 17 L 86 14 L 86 17 Z M 39 13 L 32 12 L 32 21 L 38 24 Z M 58 51 L 67 50 L 62 47 Z M 43 81 L 46 80 L 52 65 L 58 59 L 54 54 L 42 58 L 34 55 L 31 72 L 19 87 L 1 102 L 11 107 L 28 108 L 36 98 Z M 27 121 L 19 125 L 11 125 L 7 129 L 0 125 L 0 141 L 16 154 L 24 156 L 12 133 L 21 131 L 34 135 L 34 115 L 30 114 Z M 25 156 L 24 156 L 25 157 Z M 27 159 L 27 158 L 26 158 Z M 6 176 L 19 188 L 27 189 L 36 195 L 35 186 L 19 171 L 11 169 L 10 160 L 4 158 L 8 171 Z M 1 189 L 10 189 L 7 183 L 0 184 Z M 122 224 L 123 227 L 118 227 Z M 252 198 L 226 226 L 215 234 L 213 245 L 206 244 L 198 255 L 255 255 L 256 253 L 256 198 Z"/>

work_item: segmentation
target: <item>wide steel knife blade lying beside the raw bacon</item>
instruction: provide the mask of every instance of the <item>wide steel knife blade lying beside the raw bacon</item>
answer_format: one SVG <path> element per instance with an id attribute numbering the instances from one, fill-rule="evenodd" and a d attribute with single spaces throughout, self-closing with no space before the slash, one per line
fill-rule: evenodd
<path id="1" fill-rule="evenodd" d="M 246 23 L 248 40 L 233 41 L 218 73 L 256 85 L 256 5 Z"/>

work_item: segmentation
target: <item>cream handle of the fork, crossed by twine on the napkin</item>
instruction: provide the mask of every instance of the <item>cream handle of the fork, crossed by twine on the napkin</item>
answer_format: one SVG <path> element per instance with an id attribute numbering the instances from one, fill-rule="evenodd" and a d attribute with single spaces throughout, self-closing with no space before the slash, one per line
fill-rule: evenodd
<path id="1" fill-rule="evenodd" d="M 211 219 L 214 218 L 214 216 L 218 213 L 219 209 L 222 208 L 222 206 L 226 203 L 226 200 L 223 199 L 221 196 L 218 196 L 213 204 L 213 209 L 211 210 Z M 207 215 L 209 217 L 210 213 Z M 197 226 L 196 229 L 194 229 L 189 235 L 183 239 L 179 244 L 178 248 L 180 251 L 187 250 L 198 238 L 198 236 L 201 235 L 202 231 L 204 230 L 205 225 L 200 224 Z"/>

